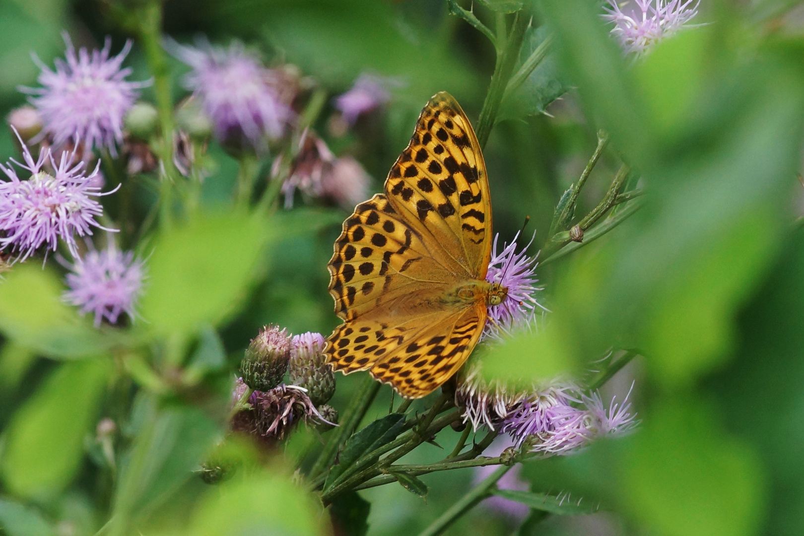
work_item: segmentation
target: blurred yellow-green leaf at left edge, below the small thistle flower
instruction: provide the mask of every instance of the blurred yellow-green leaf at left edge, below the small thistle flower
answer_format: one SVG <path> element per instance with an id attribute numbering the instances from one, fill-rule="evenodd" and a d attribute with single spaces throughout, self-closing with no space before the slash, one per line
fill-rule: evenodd
<path id="1" fill-rule="evenodd" d="M 104 354 L 113 344 L 62 301 L 64 287 L 49 268 L 17 264 L 0 280 L 0 331 L 19 346 L 51 358 Z"/>

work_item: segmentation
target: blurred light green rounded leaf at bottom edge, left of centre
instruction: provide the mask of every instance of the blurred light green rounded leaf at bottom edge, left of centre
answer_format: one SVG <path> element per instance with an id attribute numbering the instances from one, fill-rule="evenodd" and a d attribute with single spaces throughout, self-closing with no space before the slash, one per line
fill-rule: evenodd
<path id="1" fill-rule="evenodd" d="M 188 536 L 320 536 L 320 509 L 308 493 L 277 468 L 225 481 L 207 491 Z"/>

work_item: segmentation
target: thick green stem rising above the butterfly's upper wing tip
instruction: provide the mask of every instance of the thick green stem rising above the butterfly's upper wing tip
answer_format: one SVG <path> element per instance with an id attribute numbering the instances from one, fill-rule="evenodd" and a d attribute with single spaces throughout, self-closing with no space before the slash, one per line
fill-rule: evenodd
<path id="1" fill-rule="evenodd" d="M 516 60 L 519 58 L 519 48 L 522 47 L 525 30 L 530 24 L 530 17 L 522 11 L 515 14 L 510 34 L 507 31 L 505 14 L 496 14 L 496 23 L 497 32 L 494 45 L 497 49 L 497 60 L 494 63 L 494 74 L 491 75 L 489 90 L 486 92 L 486 100 L 483 101 L 483 108 L 478 119 L 477 134 L 481 148 L 486 146 L 491 129 L 494 127 L 494 121 L 497 119 L 497 112 L 500 103 L 503 102 L 508 80 L 511 80 L 511 74 L 514 72 Z"/>

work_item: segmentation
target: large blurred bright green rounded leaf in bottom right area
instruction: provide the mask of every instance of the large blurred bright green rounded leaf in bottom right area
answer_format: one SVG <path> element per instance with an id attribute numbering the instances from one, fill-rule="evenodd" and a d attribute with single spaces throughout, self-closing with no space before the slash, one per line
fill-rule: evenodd
<path id="1" fill-rule="evenodd" d="M 765 486 L 756 454 L 687 400 L 650 411 L 623 452 L 626 509 L 668 536 L 757 534 Z"/>

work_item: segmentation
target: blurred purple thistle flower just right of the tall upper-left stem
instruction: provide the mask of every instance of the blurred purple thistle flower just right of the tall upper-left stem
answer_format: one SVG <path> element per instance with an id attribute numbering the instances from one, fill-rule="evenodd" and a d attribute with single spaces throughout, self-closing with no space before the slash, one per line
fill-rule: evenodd
<path id="1" fill-rule="evenodd" d="M 245 137 L 262 149 L 265 136 L 276 139 L 285 132 L 293 110 L 276 88 L 284 77 L 265 68 L 242 43 L 224 49 L 202 39 L 186 47 L 168 39 L 166 48 L 192 68 L 184 85 L 201 101 L 220 141 Z"/>

